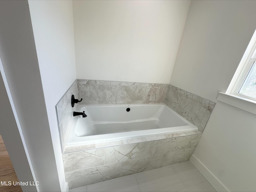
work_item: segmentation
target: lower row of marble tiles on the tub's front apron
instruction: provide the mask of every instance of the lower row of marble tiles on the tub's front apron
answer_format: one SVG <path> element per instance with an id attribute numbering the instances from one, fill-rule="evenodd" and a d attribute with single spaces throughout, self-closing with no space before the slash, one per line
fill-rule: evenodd
<path id="1" fill-rule="evenodd" d="M 194 150 L 194 148 L 188 150 L 190 153 L 186 150 L 178 150 L 160 155 L 96 166 L 84 170 L 66 172 L 66 180 L 69 188 L 72 189 L 113 178 L 128 176 L 130 174 L 187 161 L 189 160 L 191 151 Z"/>

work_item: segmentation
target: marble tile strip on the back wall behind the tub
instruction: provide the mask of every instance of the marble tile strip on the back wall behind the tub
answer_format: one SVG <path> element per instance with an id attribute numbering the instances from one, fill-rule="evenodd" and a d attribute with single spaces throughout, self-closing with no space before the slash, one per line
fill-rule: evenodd
<path id="1" fill-rule="evenodd" d="M 164 103 L 169 84 L 78 79 L 79 104 Z"/>

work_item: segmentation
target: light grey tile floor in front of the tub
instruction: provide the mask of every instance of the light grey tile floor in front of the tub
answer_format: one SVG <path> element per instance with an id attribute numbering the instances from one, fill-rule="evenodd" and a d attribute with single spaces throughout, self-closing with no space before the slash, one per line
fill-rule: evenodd
<path id="1" fill-rule="evenodd" d="M 74 188 L 70 192 L 216 192 L 190 161 Z"/>

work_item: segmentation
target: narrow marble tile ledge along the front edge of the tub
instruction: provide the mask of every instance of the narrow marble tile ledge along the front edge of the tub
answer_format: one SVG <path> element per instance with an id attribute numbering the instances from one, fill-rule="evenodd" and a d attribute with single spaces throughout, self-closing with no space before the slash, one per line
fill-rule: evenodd
<path id="1" fill-rule="evenodd" d="M 196 135 L 196 134 L 201 134 L 201 132 L 200 131 L 180 132 L 180 133 L 166 134 L 166 135 L 160 135 L 160 136 L 151 136 L 151 137 L 135 138 L 135 139 L 128 139 L 128 140 L 113 141 L 113 142 L 102 142 L 102 143 L 88 144 L 88 145 L 82 145 L 82 146 L 66 147 L 63 153 L 65 154 L 65 153 L 78 152 L 78 151 L 84 151 L 84 150 L 99 149 L 99 148 L 120 146 L 120 145 L 126 145 L 126 144 L 148 142 L 148 141 L 156 141 L 156 140 L 162 140 L 167 138 L 177 138 L 177 137 L 190 136 L 190 135 Z"/>

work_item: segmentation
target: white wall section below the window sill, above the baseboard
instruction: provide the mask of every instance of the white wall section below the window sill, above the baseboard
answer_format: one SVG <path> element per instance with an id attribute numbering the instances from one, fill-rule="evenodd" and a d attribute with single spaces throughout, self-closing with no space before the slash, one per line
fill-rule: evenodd
<path id="1" fill-rule="evenodd" d="M 196 147 L 194 156 L 228 191 L 256 191 L 255 125 L 256 115 L 219 102 Z"/>

